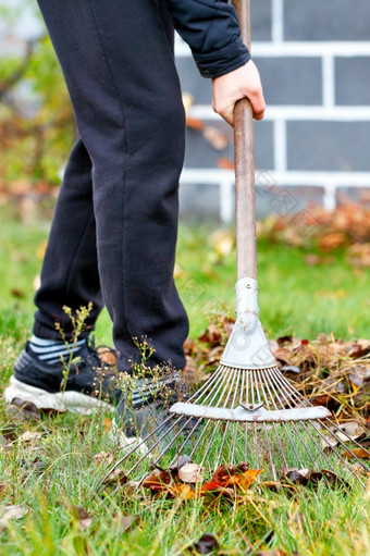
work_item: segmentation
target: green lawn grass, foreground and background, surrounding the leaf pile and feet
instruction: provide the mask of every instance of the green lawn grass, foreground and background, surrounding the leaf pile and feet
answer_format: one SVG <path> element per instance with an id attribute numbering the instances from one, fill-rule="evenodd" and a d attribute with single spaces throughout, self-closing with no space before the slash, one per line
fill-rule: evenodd
<path id="1" fill-rule="evenodd" d="M 40 269 L 37 252 L 48 223 L 21 223 L 1 210 L 0 247 L 0 390 L 29 334 L 32 282 Z M 234 311 L 235 256 L 221 258 L 207 226 L 180 231 L 177 285 L 196 336 L 210 308 Z M 369 337 L 369 270 L 354 271 L 344 252 L 323 267 L 307 267 L 305 252 L 284 246 L 259 246 L 261 320 L 271 337 L 294 332 L 313 338 L 333 332 L 345 339 Z M 107 313 L 99 319 L 99 339 L 110 341 Z M 0 519 L 7 505 L 29 511 L 0 531 L 0 554 L 7 555 L 186 555 L 202 533 L 213 533 L 222 554 L 257 554 L 284 549 L 288 555 L 354 555 L 370 552 L 370 496 L 350 490 L 298 489 L 293 496 L 252 486 L 239 504 L 156 499 L 98 490 L 107 465 L 94 456 L 118 446 L 104 429 L 104 418 L 59 415 L 26 420 L 0 403 L 1 429 L 15 427 L 18 440 L 0 445 Z M 107 423 L 107 421 L 106 421 Z M 40 437 L 22 441 L 25 431 Z M 72 506 L 92 518 L 83 531 Z M 138 516 L 125 531 L 122 516 Z M 0 526 L 1 530 L 1 526 Z M 249 552 L 248 552 L 249 551 Z"/>

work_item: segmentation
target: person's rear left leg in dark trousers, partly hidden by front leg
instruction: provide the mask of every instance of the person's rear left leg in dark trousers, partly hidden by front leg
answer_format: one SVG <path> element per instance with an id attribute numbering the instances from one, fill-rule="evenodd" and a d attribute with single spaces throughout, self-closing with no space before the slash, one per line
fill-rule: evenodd
<path id="1" fill-rule="evenodd" d="M 76 310 L 92 301 L 86 319 L 88 335 L 102 308 L 96 224 L 92 207 L 91 160 L 81 138 L 72 149 L 45 254 L 41 285 L 35 296 L 38 308 L 34 334 L 41 338 L 61 341 L 58 322 L 71 339 L 71 319 L 63 306 Z"/>

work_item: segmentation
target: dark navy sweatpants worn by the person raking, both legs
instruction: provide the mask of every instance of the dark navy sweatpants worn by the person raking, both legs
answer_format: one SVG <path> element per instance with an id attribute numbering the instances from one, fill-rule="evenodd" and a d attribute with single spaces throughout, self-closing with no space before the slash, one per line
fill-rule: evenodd
<path id="1" fill-rule="evenodd" d="M 185 122 L 162 0 L 38 0 L 69 87 L 79 138 L 60 190 L 36 294 L 34 333 L 67 336 L 63 305 L 107 306 L 119 369 L 185 365 L 188 321 L 173 267 Z M 87 331 L 86 331 L 87 334 Z"/>

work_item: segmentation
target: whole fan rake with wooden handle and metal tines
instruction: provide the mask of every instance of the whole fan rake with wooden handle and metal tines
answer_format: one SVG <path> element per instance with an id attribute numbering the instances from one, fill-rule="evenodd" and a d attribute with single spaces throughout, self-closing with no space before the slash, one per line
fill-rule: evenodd
<path id="1" fill-rule="evenodd" d="M 249 0 L 234 0 L 242 35 L 250 46 Z M 330 420 L 331 412 L 311 405 L 279 370 L 259 320 L 257 284 L 256 198 L 252 110 L 247 99 L 235 112 L 236 322 L 210 379 L 186 403 L 177 401 L 169 417 L 118 461 L 125 473 L 141 475 L 151 465 L 175 466 L 187 455 L 201 468 L 245 461 L 276 481 L 292 468 L 346 470 L 365 485 L 359 470 L 370 471 L 350 441 Z M 341 454 L 345 448 L 346 458 Z M 368 453 L 369 455 L 369 453 Z M 108 477 L 107 475 L 107 477 Z"/>

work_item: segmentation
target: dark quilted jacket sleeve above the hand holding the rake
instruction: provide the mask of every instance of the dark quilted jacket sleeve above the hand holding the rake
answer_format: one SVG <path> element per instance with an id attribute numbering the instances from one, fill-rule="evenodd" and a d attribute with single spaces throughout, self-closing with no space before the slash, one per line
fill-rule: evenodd
<path id="1" fill-rule="evenodd" d="M 250 59 L 236 12 L 227 0 L 164 0 L 164 3 L 203 77 L 219 77 Z"/>

